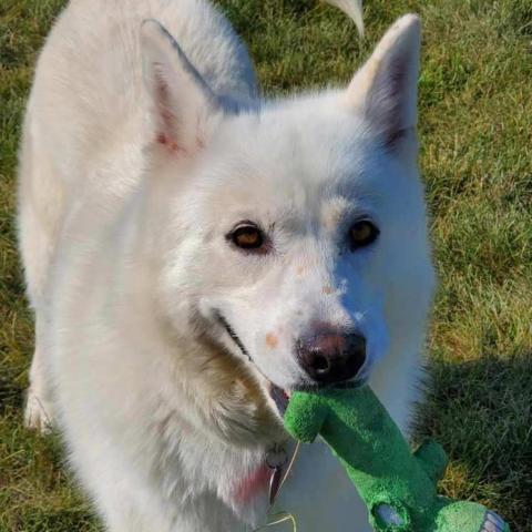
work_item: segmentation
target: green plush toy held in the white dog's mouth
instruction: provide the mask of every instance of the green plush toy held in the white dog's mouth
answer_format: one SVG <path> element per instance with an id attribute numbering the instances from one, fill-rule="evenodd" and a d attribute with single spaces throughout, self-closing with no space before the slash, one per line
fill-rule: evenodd
<path id="1" fill-rule="evenodd" d="M 434 441 L 413 454 L 369 387 L 294 392 L 285 426 L 310 443 L 318 433 L 344 463 L 378 532 L 509 532 L 481 504 L 438 495 L 447 457 Z M 347 532 L 347 531 L 346 531 Z"/>

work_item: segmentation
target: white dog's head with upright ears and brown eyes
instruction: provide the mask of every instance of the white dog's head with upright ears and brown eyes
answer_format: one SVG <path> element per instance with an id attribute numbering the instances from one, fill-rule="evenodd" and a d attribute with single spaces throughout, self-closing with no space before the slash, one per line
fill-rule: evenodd
<path id="1" fill-rule="evenodd" d="M 362 381 L 419 347 L 433 284 L 419 47 L 407 16 L 347 89 L 238 104 L 144 24 L 147 186 L 158 191 L 161 297 L 176 328 L 192 325 L 282 390 Z"/>

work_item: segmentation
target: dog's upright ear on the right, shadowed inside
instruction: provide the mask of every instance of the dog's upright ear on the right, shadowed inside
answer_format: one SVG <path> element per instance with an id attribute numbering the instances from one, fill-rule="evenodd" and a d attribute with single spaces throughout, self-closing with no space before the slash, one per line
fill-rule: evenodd
<path id="1" fill-rule="evenodd" d="M 361 110 L 387 147 L 410 136 L 417 122 L 421 31 L 415 14 L 401 17 L 385 34 L 345 94 Z"/>

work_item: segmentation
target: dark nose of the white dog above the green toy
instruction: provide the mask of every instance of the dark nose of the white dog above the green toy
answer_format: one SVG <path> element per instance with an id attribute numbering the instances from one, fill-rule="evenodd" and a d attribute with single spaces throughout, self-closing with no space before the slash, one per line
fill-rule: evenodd
<path id="1" fill-rule="evenodd" d="M 355 377 L 366 361 L 364 336 L 321 332 L 297 342 L 301 368 L 317 382 L 342 382 Z"/>

